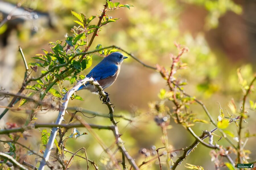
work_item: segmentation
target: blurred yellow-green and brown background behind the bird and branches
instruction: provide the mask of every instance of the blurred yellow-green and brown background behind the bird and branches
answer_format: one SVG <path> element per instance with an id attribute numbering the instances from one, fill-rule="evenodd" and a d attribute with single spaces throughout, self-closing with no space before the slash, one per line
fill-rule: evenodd
<path id="1" fill-rule="evenodd" d="M 170 67 L 170 53 L 177 54 L 174 46 L 174 41 L 176 41 L 190 50 L 182 58 L 189 68 L 176 74 L 177 77 L 187 81 L 185 91 L 203 101 L 214 120 L 219 114 L 217 102 L 221 104 L 223 110 L 230 111 L 228 103 L 231 98 L 234 98 L 238 108 L 241 107 L 242 91 L 236 70 L 241 68 L 241 73 L 248 82 L 252 80 L 253 73 L 256 71 L 256 1 L 127 0 L 120 2 L 134 5 L 134 8 L 108 12 L 109 16 L 118 17 L 121 20 L 103 28 L 90 50 L 93 50 L 97 44 L 117 45 L 149 65 L 154 66 L 158 63 Z M 20 3 L 21 7 L 16 8 L 17 3 Z M 48 42 L 65 41 L 64 35 L 71 34 L 70 29 L 77 25 L 73 22 L 75 17 L 71 15 L 71 10 L 77 13 L 82 12 L 86 16 L 96 15 L 100 14 L 104 3 L 104 0 L 0 1 L 0 21 L 3 22 L 10 12 L 13 14 L 11 20 L 0 27 L 0 87 L 15 93 L 22 84 L 25 69 L 18 52 L 19 45 L 23 49 L 27 62 L 30 63 L 34 60 L 30 58 L 41 53 L 42 48 L 50 50 Z M 94 22 L 98 21 L 95 19 Z M 101 60 L 101 57 L 94 56 L 92 67 Z M 88 73 L 92 67 L 86 69 L 84 73 Z M 40 74 L 40 70 L 37 74 Z M 67 82 L 66 86 L 73 85 Z M 142 148 L 150 150 L 152 146 L 163 147 L 161 129 L 154 122 L 154 115 L 150 113 L 148 107 L 150 102 L 160 100 L 158 93 L 161 88 L 167 89 L 167 86 L 159 73 L 129 58 L 122 64 L 116 82 L 106 90 L 111 94 L 110 99 L 115 104 L 115 113 L 133 119 L 132 123 L 123 119 L 117 120 L 120 121 L 118 126 L 120 133 L 123 134 L 125 147 L 135 158 L 137 164 L 154 157 L 153 154 L 147 157 L 141 154 Z M 80 91 L 79 95 L 84 101 L 73 100 L 69 104 L 70 107 L 82 107 L 108 114 L 108 108 L 101 104 L 97 95 L 87 91 Z M 255 101 L 256 96 L 250 95 L 250 99 Z M 0 101 L 1 106 L 7 104 L 7 100 Z M 171 103 L 168 105 L 172 107 Z M 249 106 L 249 100 L 246 105 Z M 1 112 L 2 110 L 0 108 Z M 191 110 L 199 118 L 208 120 L 200 106 L 194 105 Z M 69 112 L 72 113 L 72 111 Z M 54 122 L 57 114 L 58 112 L 38 113 L 37 122 Z M 248 129 L 250 133 L 256 133 L 254 115 L 255 112 L 249 111 L 250 119 L 247 120 L 248 124 L 244 124 L 245 129 Z M 26 111 L 18 113 L 9 111 L 1 120 L 1 127 L 4 127 L 7 122 L 15 122 L 22 126 L 26 116 Z M 86 118 L 84 116 L 82 118 L 88 123 L 110 125 L 108 118 Z M 66 120 L 68 119 L 67 115 Z M 193 136 L 181 125 L 176 125 L 173 120 L 170 121 L 173 127 L 168 130 L 168 140 L 173 149 L 191 145 L 194 141 Z M 192 128 L 197 135 L 200 135 L 202 129 L 211 130 L 214 126 L 199 123 Z M 237 134 L 235 126 L 230 126 L 229 129 Z M 80 133 L 88 132 L 84 128 L 80 128 L 79 131 Z M 112 132 L 95 131 L 114 152 L 116 148 L 113 146 Z M 70 133 L 71 130 L 67 134 Z M 27 143 L 25 139 L 20 140 Z M 39 152 L 40 149 L 44 149 L 38 145 L 41 143 L 41 137 L 37 129 L 31 132 L 31 137 L 27 140 L 34 150 Z M 216 140 L 218 140 L 217 137 Z M 230 140 L 236 143 L 232 137 Z M 255 137 L 249 138 L 245 147 L 251 151 L 251 161 L 256 158 L 255 142 Z M 218 144 L 229 146 L 224 139 L 221 139 Z M 66 147 L 72 152 L 85 147 L 88 158 L 95 160 L 100 169 L 111 169 L 108 168 L 108 155 L 90 134 L 83 135 L 76 140 L 67 140 Z M 209 148 L 199 145 L 177 169 L 187 169 L 184 167 L 185 163 L 201 165 L 205 169 L 214 169 L 209 152 Z M 179 156 L 182 152 L 176 154 Z M 71 154 L 66 156 L 68 159 Z M 29 158 L 31 163 L 36 163 L 33 156 L 27 159 Z M 165 158 L 161 159 L 165 169 Z M 173 160 L 176 159 L 174 155 Z M 75 160 L 77 161 L 73 162 L 70 169 L 84 169 L 86 161 L 80 158 L 75 158 Z M 159 169 L 158 161 L 142 169 Z"/>

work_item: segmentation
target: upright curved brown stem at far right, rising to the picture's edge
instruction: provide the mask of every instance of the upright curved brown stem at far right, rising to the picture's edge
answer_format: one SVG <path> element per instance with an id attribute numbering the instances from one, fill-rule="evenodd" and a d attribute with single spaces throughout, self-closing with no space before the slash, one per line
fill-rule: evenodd
<path id="1" fill-rule="evenodd" d="M 245 114 L 245 101 L 246 101 L 246 98 L 247 98 L 247 95 L 249 94 L 249 92 L 251 91 L 251 88 L 253 86 L 253 83 L 254 81 L 256 80 L 256 74 L 254 75 L 254 78 L 253 80 L 251 81 L 250 85 L 249 85 L 249 88 L 247 89 L 245 95 L 243 96 L 243 105 L 242 105 L 242 113 L 241 113 L 241 117 L 240 117 L 240 122 L 239 122 L 239 128 L 238 128 L 238 163 L 242 163 L 242 158 L 241 158 L 241 142 L 242 142 L 242 139 L 241 139 L 241 131 L 242 131 L 242 120 L 243 120 L 243 114 Z"/>

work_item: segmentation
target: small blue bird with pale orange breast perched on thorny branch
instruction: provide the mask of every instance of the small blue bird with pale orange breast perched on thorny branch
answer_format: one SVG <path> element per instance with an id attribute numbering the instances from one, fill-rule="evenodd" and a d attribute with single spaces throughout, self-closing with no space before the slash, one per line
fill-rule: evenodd
<path id="1" fill-rule="evenodd" d="M 98 81 L 100 86 L 106 89 L 117 79 L 121 64 L 126 58 L 128 57 L 123 56 L 120 52 L 113 52 L 100 61 L 100 63 L 98 63 L 86 77 L 94 78 L 94 80 Z M 83 89 L 90 90 L 93 93 L 98 91 L 97 88 L 90 83 L 84 84 L 84 86 L 81 86 L 78 90 Z"/>

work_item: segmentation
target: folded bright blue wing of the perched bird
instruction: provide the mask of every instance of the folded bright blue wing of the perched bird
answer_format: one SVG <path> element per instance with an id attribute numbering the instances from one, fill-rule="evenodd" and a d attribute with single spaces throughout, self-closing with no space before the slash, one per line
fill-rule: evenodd
<path id="1" fill-rule="evenodd" d="M 86 77 L 92 77 L 94 80 L 99 81 L 114 76 L 117 73 L 117 70 L 118 66 L 115 64 L 99 63 L 86 75 Z"/>

